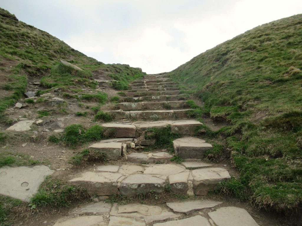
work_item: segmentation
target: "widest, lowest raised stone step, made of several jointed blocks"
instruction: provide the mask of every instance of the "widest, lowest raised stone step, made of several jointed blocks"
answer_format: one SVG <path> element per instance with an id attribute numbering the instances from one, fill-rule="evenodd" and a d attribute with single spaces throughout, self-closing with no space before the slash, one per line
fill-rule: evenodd
<path id="1" fill-rule="evenodd" d="M 95 171 L 82 173 L 69 180 L 87 189 L 91 194 L 108 196 L 120 193 L 124 196 L 161 193 L 170 184 L 171 190 L 179 194 L 206 195 L 220 181 L 230 178 L 223 168 L 187 170 L 177 164 L 149 165 L 102 165 Z M 193 187 L 190 186 L 193 184 Z"/>

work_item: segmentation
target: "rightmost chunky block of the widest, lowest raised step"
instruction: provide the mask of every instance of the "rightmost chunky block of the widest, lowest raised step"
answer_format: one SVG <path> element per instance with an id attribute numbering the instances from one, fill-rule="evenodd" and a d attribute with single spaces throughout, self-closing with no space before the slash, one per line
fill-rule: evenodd
<path id="1" fill-rule="evenodd" d="M 193 189 L 195 195 L 206 195 L 218 182 L 230 178 L 230 174 L 223 168 L 204 168 L 192 170 Z"/>

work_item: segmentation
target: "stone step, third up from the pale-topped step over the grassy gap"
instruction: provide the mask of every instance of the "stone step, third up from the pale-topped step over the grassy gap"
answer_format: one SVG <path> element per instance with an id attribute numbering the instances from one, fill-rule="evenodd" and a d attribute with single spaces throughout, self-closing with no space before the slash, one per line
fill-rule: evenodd
<path id="1" fill-rule="evenodd" d="M 162 96 L 141 96 L 141 97 L 121 97 L 122 101 L 126 102 L 139 102 L 139 101 L 178 101 L 178 100 L 187 100 L 188 97 L 185 94 L 179 95 L 162 95 Z"/>

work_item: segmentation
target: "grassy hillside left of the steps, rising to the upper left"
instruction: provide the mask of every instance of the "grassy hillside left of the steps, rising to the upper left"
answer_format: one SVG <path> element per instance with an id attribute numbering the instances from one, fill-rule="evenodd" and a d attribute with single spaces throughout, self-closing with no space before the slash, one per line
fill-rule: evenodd
<path id="1" fill-rule="evenodd" d="M 56 70 L 59 60 L 81 67 L 84 73 L 67 73 L 62 79 L 62 74 Z M 41 83 L 45 88 L 65 86 L 70 89 L 70 86 L 81 85 L 93 88 L 96 85 L 93 80 L 94 71 L 102 71 L 117 80 L 112 85 L 119 90 L 128 89 L 130 81 L 145 74 L 139 68 L 126 64 L 104 64 L 87 57 L 65 42 L 19 21 L 0 8 L 0 92 L 4 94 L 0 96 L 2 121 L 5 109 L 23 96 L 29 77 L 43 77 Z"/>

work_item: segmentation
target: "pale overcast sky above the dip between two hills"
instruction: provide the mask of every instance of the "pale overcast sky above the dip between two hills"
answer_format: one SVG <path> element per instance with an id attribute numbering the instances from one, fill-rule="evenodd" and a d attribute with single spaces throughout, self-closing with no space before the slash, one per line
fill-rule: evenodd
<path id="1" fill-rule="evenodd" d="M 0 0 L 0 7 L 98 61 L 147 73 L 302 13 L 301 0 Z"/>

